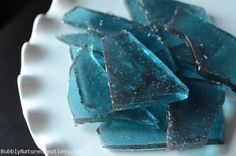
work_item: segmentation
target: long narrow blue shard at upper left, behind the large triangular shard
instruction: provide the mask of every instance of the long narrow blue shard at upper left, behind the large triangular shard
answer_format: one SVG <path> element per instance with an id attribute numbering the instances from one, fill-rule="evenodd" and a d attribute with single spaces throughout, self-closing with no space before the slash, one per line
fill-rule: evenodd
<path id="1" fill-rule="evenodd" d="M 121 17 L 79 6 L 64 16 L 64 22 L 78 28 L 100 32 L 104 35 L 114 35 L 122 30 L 127 30 L 155 53 L 170 69 L 177 70 L 168 49 L 162 45 L 158 35 L 150 26 L 142 26 Z"/>

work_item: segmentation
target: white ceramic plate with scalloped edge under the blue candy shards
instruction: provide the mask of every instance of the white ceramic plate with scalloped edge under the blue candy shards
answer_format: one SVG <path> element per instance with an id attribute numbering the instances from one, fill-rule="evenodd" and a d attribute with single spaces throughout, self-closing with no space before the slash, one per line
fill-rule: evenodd
<path id="1" fill-rule="evenodd" d="M 220 28 L 236 36 L 235 0 L 184 0 L 206 8 Z M 30 41 L 22 47 L 22 68 L 18 86 L 23 114 L 38 147 L 47 155 L 75 156 L 234 156 L 236 153 L 236 101 L 229 93 L 224 105 L 226 144 L 191 151 L 115 152 L 103 149 L 96 125 L 74 126 L 67 103 L 69 48 L 58 34 L 76 32 L 62 23 L 64 13 L 76 5 L 112 12 L 130 19 L 123 0 L 54 0 L 46 15 L 35 19 Z"/>

